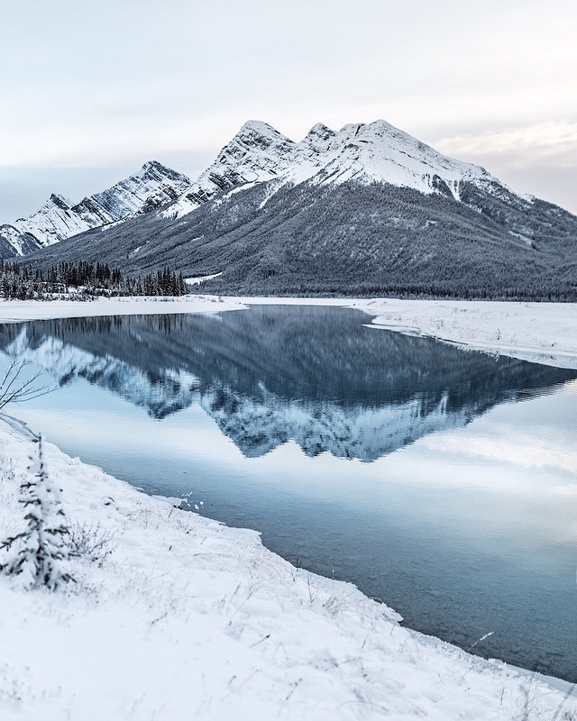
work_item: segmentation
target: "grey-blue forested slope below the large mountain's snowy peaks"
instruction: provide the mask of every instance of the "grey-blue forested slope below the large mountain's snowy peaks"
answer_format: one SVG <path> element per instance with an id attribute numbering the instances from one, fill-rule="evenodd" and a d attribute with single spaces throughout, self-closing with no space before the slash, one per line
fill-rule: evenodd
<path id="1" fill-rule="evenodd" d="M 129 274 L 168 263 L 185 277 L 220 273 L 198 287 L 215 293 L 577 299 L 577 218 L 544 201 L 463 187 L 487 205 L 473 210 L 377 183 L 273 189 L 83 233 L 27 261 L 105 258 Z"/>

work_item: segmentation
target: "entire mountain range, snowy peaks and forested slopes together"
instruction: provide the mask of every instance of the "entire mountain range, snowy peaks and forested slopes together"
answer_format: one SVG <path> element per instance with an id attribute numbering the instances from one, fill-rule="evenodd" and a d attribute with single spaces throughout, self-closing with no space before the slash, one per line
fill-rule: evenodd
<path id="1" fill-rule="evenodd" d="M 206 292 L 577 299 L 577 217 L 376 121 L 245 123 L 194 182 L 157 162 L 0 227 L 0 257 L 169 264 Z"/>

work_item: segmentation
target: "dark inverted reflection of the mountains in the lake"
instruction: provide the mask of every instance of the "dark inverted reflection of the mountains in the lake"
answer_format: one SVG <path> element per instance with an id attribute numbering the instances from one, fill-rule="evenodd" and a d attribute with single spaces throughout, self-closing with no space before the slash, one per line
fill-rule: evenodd
<path id="1" fill-rule="evenodd" d="M 7 325 L 0 348 L 60 385 L 87 379 L 153 418 L 198 403 L 247 457 L 294 440 L 309 456 L 374 461 L 577 377 L 365 319 L 322 306 L 73 318 Z"/>

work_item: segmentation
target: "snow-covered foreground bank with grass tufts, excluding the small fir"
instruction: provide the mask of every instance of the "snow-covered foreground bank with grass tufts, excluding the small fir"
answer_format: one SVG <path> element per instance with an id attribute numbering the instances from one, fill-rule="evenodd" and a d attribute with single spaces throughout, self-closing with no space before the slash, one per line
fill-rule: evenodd
<path id="1" fill-rule="evenodd" d="M 35 446 L 0 421 L 0 522 Z M 297 569 L 227 528 L 147 497 L 46 443 L 70 523 L 112 536 L 50 594 L 0 578 L 0 717 L 575 718 L 558 688 L 398 625 L 352 585 Z"/>

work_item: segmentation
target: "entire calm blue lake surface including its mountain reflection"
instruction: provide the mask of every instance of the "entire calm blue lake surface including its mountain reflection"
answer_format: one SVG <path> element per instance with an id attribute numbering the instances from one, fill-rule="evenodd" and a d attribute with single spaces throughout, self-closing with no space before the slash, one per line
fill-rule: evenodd
<path id="1" fill-rule="evenodd" d="M 261 531 L 407 625 L 577 678 L 577 372 L 255 306 L 0 326 L 60 388 L 19 415 Z M 5 363 L 5 356 L 0 359 Z M 13 411 L 14 412 L 14 411 Z"/>

